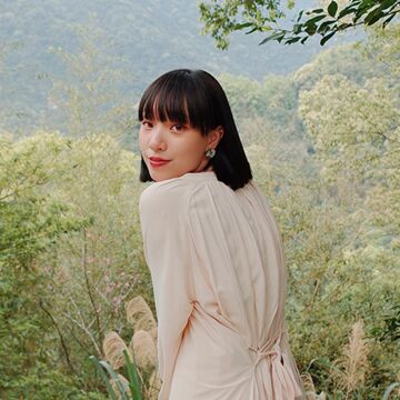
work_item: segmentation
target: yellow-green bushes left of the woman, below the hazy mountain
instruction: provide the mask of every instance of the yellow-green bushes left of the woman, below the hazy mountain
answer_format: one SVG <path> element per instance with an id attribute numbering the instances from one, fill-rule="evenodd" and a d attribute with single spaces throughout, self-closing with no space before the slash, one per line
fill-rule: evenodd
<path id="1" fill-rule="evenodd" d="M 44 132 L 17 142 L 2 137 L 0 151 L 0 397 L 59 399 L 70 392 L 100 399 L 82 349 L 100 348 L 102 318 L 118 318 L 130 293 L 127 282 L 142 290 L 149 282 L 148 272 L 138 271 L 140 244 L 130 248 L 140 241 L 132 213 L 140 193 L 132 184 L 134 157 L 110 137 L 78 141 Z M 100 237 L 106 230 L 107 239 Z M 80 256 L 82 233 L 87 248 Z M 107 249 L 116 249 L 119 260 Z"/>

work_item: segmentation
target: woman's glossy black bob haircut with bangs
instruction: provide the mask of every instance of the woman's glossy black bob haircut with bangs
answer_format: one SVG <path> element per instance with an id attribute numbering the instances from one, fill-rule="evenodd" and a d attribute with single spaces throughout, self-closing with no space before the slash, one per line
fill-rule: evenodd
<path id="1" fill-rule="evenodd" d="M 227 96 L 219 82 L 202 70 L 178 69 L 156 79 L 139 103 L 139 121 L 154 119 L 188 123 L 207 136 L 218 126 L 223 136 L 210 159 L 217 179 L 233 190 L 251 180 L 251 169 L 240 141 Z M 151 181 L 141 159 L 140 180 Z"/>

